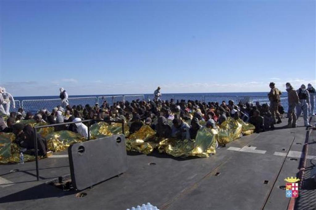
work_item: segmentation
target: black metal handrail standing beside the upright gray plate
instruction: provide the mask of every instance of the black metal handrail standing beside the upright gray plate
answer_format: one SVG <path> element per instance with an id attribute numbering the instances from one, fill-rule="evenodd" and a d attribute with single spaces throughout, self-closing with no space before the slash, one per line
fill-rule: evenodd
<path id="1" fill-rule="evenodd" d="M 36 178 L 37 181 L 40 180 L 40 172 L 39 172 L 39 163 L 38 163 L 38 147 L 37 147 L 37 129 L 40 128 L 47 128 L 47 127 L 54 127 L 59 125 L 70 125 L 70 124 L 76 124 L 76 123 L 88 123 L 88 140 L 90 140 L 90 122 L 91 121 L 99 121 L 99 122 L 106 122 L 106 123 L 122 123 L 122 133 L 124 135 L 124 120 L 118 121 L 118 120 L 82 120 L 77 122 L 68 122 L 68 123 L 57 123 L 57 124 L 51 124 L 51 125 L 42 125 L 42 126 L 35 126 L 34 127 L 34 149 L 35 149 L 35 164 L 36 164 Z"/>

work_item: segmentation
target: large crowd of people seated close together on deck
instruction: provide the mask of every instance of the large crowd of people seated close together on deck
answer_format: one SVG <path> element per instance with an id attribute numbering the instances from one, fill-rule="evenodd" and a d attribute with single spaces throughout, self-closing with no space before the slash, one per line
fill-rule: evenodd
<path id="1" fill-rule="evenodd" d="M 70 130 L 88 137 L 86 123 L 80 121 L 91 119 L 90 125 L 100 120 L 120 120 L 128 123 L 130 134 L 137 132 L 144 124 L 149 125 L 156 131 L 158 137 L 195 139 L 197 131 L 202 128 L 201 124 L 208 128 L 216 129 L 227 117 L 242 119 L 244 122 L 252 123 L 255 132 L 263 132 L 274 129 L 274 120 L 271 118 L 268 104 L 255 105 L 251 103 L 235 104 L 233 100 L 218 102 L 201 102 L 193 100 L 155 100 L 155 101 L 125 101 L 113 105 L 106 101 L 94 106 L 74 105 L 55 107 L 52 112 L 40 110 L 38 113 L 11 112 L 9 118 L 4 122 L 0 117 L 0 132 L 13 132 L 17 136 L 17 142 L 21 147 L 33 147 L 33 129 L 30 126 L 22 126 L 22 120 L 33 119 L 37 123 L 59 124 L 66 122 L 78 122 L 69 125 L 55 125 L 55 131 Z M 18 122 L 18 123 L 16 123 Z M 204 122 L 204 123 L 202 123 Z M 38 146 L 42 154 L 45 154 L 47 146 L 43 137 L 38 137 Z"/>

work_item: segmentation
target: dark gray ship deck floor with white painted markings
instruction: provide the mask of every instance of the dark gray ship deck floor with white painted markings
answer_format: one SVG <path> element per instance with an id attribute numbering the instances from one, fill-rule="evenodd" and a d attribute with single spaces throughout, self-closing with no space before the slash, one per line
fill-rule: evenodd
<path id="1" fill-rule="evenodd" d="M 129 153 L 126 173 L 83 190 L 87 195 L 81 198 L 78 191 L 47 184 L 70 177 L 68 158 L 56 156 L 66 152 L 39 161 L 40 181 L 35 181 L 35 162 L 0 165 L 0 209 L 125 210 L 147 202 L 167 210 L 287 209 L 290 199 L 279 186 L 284 178 L 298 176 L 305 141 L 314 155 L 308 156 L 307 167 L 315 167 L 316 145 L 315 131 L 309 134 L 302 118 L 295 129 L 284 128 L 286 121 L 274 131 L 218 148 L 209 158 Z M 315 189 L 312 181 L 304 183 L 295 208 L 316 209 Z"/>

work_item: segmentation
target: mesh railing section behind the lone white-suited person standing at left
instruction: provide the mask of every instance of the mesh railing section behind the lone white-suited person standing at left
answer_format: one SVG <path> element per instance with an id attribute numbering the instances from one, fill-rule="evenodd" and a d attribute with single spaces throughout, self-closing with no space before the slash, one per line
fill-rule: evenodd
<path id="1" fill-rule="evenodd" d="M 68 98 L 69 105 L 95 105 L 97 97 L 78 97 Z M 37 112 L 40 109 L 52 111 L 57 105 L 62 105 L 60 99 L 37 99 L 37 100 L 22 100 L 22 108 L 24 111 Z"/>

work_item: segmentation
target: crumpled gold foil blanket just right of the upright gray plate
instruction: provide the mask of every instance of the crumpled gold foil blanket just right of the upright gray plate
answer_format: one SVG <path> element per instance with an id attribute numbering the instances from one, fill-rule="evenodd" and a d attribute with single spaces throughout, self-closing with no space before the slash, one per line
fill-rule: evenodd
<path id="1" fill-rule="evenodd" d="M 152 153 L 158 146 L 155 135 L 156 132 L 149 125 L 143 125 L 126 139 L 126 150 L 143 154 Z"/>

